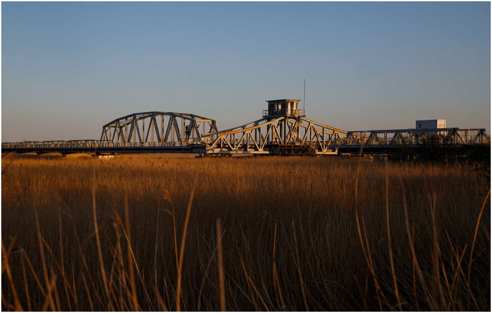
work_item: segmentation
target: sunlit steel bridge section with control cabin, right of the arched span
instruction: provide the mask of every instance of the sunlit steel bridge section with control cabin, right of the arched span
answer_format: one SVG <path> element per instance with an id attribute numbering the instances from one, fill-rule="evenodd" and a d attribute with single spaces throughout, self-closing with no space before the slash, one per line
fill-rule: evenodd
<path id="1" fill-rule="evenodd" d="M 452 137 L 458 145 L 490 143 L 484 128 L 432 128 L 344 131 L 307 119 L 300 100 L 269 100 L 263 118 L 251 123 L 202 135 L 204 153 L 329 155 L 340 153 L 386 153 L 402 144 L 420 147 L 432 135 Z M 461 134 L 463 133 L 463 134 Z"/>

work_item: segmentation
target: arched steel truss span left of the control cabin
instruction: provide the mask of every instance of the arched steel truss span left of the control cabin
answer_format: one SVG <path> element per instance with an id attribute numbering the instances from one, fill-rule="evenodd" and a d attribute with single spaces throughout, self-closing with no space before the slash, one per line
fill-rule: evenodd
<path id="1" fill-rule="evenodd" d="M 216 132 L 214 119 L 195 114 L 143 112 L 117 118 L 102 127 L 101 142 L 200 141 L 205 131 Z"/>

